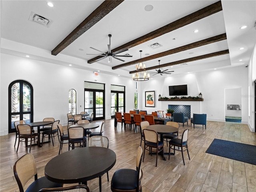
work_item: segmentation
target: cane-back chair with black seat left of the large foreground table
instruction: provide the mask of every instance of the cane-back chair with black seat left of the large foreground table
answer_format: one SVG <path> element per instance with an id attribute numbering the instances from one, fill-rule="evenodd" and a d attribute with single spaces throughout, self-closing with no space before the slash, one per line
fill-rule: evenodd
<path id="1" fill-rule="evenodd" d="M 13 167 L 14 177 L 18 183 L 20 192 L 24 192 L 24 186 L 34 176 L 34 182 L 28 186 L 26 192 L 37 192 L 42 188 L 62 187 L 63 184 L 54 183 L 46 177 L 37 177 L 36 162 L 31 153 L 25 154 L 17 160 Z"/>

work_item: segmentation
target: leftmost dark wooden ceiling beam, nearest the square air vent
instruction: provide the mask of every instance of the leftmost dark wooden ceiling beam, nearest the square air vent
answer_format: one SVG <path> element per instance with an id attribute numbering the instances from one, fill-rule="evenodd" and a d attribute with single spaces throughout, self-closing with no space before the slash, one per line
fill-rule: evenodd
<path id="1" fill-rule="evenodd" d="M 82 23 L 80 23 L 60 44 L 53 50 L 52 55 L 59 54 L 64 48 L 69 46 L 74 40 L 81 36 L 84 32 L 94 26 L 104 16 L 116 8 L 124 0 L 106 0 L 96 10 L 94 10 Z"/>

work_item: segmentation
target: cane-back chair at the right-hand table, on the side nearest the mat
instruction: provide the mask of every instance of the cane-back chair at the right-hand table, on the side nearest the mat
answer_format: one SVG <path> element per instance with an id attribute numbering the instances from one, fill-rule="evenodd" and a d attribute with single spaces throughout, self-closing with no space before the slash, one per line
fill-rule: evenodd
<path id="1" fill-rule="evenodd" d="M 179 147 L 181 149 L 179 150 L 179 149 L 176 149 L 175 147 Z M 175 154 L 175 150 L 181 151 L 183 164 L 185 165 L 183 152 L 184 151 L 188 152 L 188 129 L 184 130 L 181 139 L 175 138 L 169 141 L 169 160 L 170 160 L 171 148 L 174 150 L 174 154 Z M 186 148 L 186 149 L 183 150 L 183 148 Z M 190 160 L 189 153 L 188 153 L 188 158 Z"/>

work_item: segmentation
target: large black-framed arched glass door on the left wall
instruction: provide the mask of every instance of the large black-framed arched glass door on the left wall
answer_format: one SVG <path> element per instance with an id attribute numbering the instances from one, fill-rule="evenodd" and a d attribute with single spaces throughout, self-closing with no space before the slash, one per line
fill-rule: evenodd
<path id="1" fill-rule="evenodd" d="M 24 80 L 16 80 L 8 88 L 8 132 L 16 132 L 14 121 L 33 122 L 33 87 Z"/>

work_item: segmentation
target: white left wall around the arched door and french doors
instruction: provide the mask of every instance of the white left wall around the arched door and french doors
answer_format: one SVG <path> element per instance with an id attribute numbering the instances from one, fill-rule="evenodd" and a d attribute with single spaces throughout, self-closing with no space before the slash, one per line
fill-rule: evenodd
<path id="1" fill-rule="evenodd" d="M 48 62 L 1 54 L 0 135 L 8 134 L 8 86 L 14 80 L 26 80 L 34 89 L 34 122 L 54 117 L 67 124 L 68 90 L 77 92 L 77 113 L 84 111 L 84 81 L 94 82 L 93 72 Z M 110 117 L 110 85 L 126 86 L 126 110 L 134 106 L 135 82 L 132 79 L 101 74 L 97 82 L 106 84 L 106 119 Z M 80 105 L 82 107 L 80 107 Z"/>

